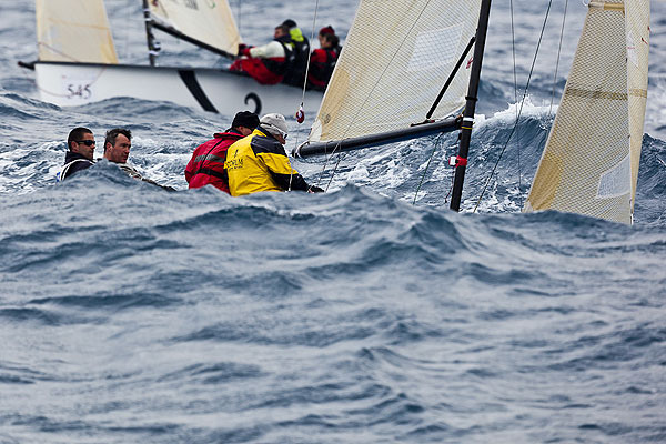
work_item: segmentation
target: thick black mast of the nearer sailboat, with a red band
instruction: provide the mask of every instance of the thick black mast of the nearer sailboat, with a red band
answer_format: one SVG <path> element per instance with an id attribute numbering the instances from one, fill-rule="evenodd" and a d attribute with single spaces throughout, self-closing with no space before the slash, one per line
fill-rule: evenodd
<path id="1" fill-rule="evenodd" d="M 481 12 L 478 14 L 478 27 L 476 27 L 476 47 L 474 47 L 474 60 L 472 62 L 472 72 L 470 74 L 470 88 L 467 89 L 467 103 L 463 114 L 463 124 L 461 127 L 461 143 L 458 155 L 455 159 L 455 179 L 451 194 L 451 209 L 460 211 L 461 198 L 463 195 L 463 182 L 465 181 L 465 169 L 467 165 L 467 154 L 470 152 L 470 139 L 472 138 L 472 124 L 474 123 L 474 111 L 476 109 L 476 94 L 478 92 L 478 79 L 481 78 L 481 64 L 483 61 L 483 51 L 485 47 L 486 33 L 488 30 L 488 18 L 491 16 L 491 0 L 481 1 Z"/>

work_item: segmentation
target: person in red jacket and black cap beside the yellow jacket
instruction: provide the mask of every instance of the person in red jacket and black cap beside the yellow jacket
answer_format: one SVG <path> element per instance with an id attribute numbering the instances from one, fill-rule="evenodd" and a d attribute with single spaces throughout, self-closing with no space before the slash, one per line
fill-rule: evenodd
<path id="1" fill-rule="evenodd" d="M 200 144 L 185 168 L 185 180 L 190 188 L 211 184 L 229 193 L 226 171 L 224 171 L 226 150 L 232 143 L 250 135 L 258 125 L 259 117 L 255 113 L 241 111 L 233 118 L 229 130 L 215 133 L 213 139 Z"/>

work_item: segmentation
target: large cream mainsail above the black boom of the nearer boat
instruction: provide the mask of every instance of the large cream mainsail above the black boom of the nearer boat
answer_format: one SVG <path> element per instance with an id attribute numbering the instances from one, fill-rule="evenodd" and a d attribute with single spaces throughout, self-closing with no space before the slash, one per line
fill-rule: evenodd
<path id="1" fill-rule="evenodd" d="M 423 121 L 475 33 L 480 3 L 362 0 L 310 141 L 376 134 Z M 433 118 L 464 104 L 467 64 Z"/>

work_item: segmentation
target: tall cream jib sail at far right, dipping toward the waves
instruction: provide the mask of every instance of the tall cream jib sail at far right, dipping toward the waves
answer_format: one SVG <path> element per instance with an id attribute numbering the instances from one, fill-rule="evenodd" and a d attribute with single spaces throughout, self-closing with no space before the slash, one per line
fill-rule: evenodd
<path id="1" fill-rule="evenodd" d="M 589 2 L 525 211 L 632 222 L 647 97 L 649 4 L 626 3 Z"/>

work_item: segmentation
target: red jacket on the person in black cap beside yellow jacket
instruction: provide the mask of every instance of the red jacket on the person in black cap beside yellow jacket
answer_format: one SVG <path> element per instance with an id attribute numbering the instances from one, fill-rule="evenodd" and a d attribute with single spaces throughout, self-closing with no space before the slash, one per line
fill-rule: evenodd
<path id="1" fill-rule="evenodd" d="M 235 141 L 243 139 L 243 134 L 230 129 L 223 133 L 215 133 L 213 138 L 194 150 L 194 154 L 185 168 L 185 180 L 190 188 L 211 184 L 229 193 L 229 183 L 224 171 L 226 150 Z"/>

